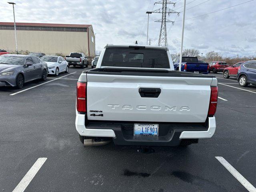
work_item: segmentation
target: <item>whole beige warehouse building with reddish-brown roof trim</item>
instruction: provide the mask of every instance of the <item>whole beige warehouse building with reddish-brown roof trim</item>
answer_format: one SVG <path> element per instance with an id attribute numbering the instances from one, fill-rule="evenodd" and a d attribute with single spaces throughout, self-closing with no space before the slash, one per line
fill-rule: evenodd
<path id="1" fill-rule="evenodd" d="M 16 23 L 19 52 L 42 52 L 69 55 L 84 52 L 95 56 L 95 35 L 92 25 Z M 14 23 L 0 22 L 0 49 L 15 52 Z"/>

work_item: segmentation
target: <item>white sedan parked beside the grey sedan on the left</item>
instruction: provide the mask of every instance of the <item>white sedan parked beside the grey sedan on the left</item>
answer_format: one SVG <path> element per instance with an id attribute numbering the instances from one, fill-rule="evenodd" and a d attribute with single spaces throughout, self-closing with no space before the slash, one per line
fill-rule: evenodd
<path id="1" fill-rule="evenodd" d="M 68 62 L 61 56 L 43 56 L 40 59 L 47 63 L 48 74 L 58 76 L 61 72 L 68 72 Z"/>

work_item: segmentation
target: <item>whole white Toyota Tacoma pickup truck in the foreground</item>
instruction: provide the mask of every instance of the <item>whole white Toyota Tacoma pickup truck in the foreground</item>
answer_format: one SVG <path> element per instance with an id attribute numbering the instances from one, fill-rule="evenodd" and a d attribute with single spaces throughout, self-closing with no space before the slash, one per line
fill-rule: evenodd
<path id="1" fill-rule="evenodd" d="M 104 47 L 77 82 L 76 130 L 85 146 L 186 146 L 215 132 L 214 76 L 175 71 L 167 47 Z"/>

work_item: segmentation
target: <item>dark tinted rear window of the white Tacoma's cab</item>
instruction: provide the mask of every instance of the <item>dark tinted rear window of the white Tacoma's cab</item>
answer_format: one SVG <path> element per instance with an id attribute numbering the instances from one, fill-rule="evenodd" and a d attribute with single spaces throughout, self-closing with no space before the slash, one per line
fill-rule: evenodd
<path id="1" fill-rule="evenodd" d="M 101 66 L 134 68 L 170 68 L 167 52 L 164 50 L 108 48 Z"/>

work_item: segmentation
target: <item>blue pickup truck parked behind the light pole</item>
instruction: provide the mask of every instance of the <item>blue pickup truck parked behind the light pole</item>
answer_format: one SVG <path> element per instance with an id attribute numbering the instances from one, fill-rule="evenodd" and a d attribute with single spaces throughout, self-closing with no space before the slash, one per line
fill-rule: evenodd
<path id="1" fill-rule="evenodd" d="M 173 60 L 174 70 L 179 70 L 180 57 L 175 57 Z M 182 56 L 181 71 L 208 74 L 209 64 L 199 62 L 197 57 Z"/>

